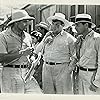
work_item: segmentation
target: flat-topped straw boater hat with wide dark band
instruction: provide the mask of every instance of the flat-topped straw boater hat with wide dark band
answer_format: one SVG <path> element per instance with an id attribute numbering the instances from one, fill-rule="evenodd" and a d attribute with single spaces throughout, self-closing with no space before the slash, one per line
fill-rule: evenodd
<path id="1" fill-rule="evenodd" d="M 75 17 L 75 24 L 80 22 L 90 23 L 91 28 L 96 27 L 96 25 L 92 22 L 92 17 L 89 14 L 77 14 Z"/>

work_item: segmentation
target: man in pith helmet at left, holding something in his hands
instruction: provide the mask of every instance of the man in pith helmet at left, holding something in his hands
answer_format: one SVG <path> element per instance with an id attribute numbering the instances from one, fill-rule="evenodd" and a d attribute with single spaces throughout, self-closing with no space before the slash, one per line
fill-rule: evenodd
<path id="1" fill-rule="evenodd" d="M 16 10 L 8 28 L 0 34 L 0 63 L 2 69 L 2 93 L 41 93 L 34 79 L 24 81 L 31 54 L 29 36 L 24 30 L 34 20 L 25 10 Z M 25 40 L 24 40 L 25 39 Z M 29 41 L 28 41 L 29 39 Z M 35 87 L 35 88 L 34 88 Z M 33 89 L 34 88 L 34 89 Z"/>

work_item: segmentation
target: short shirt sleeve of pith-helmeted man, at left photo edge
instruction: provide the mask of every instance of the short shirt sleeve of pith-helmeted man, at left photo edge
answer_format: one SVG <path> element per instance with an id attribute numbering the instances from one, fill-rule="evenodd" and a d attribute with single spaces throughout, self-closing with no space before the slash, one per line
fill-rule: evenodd
<path id="1" fill-rule="evenodd" d="M 0 34 L 0 53 L 7 53 L 7 42 L 2 34 Z"/>

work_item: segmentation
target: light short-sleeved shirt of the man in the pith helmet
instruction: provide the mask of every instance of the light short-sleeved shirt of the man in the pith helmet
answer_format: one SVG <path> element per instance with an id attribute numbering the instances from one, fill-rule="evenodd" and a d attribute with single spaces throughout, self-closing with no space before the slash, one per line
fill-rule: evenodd
<path id="1" fill-rule="evenodd" d="M 26 34 L 26 33 L 25 33 Z M 28 33 L 27 33 L 28 34 Z M 14 34 L 11 30 L 11 28 L 8 28 L 7 30 L 3 31 L 0 34 L 0 53 L 13 53 L 16 50 L 22 49 L 23 44 L 25 47 L 27 47 L 29 44 L 27 42 L 21 43 L 21 38 Z M 29 42 L 28 42 L 29 43 Z M 19 59 L 16 59 L 11 65 L 20 65 L 20 64 L 27 64 L 28 60 L 26 56 L 21 56 Z"/>

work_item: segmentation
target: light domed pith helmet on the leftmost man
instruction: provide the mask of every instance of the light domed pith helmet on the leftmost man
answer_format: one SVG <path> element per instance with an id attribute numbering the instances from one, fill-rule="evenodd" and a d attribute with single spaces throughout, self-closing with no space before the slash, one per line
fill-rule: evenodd
<path id="1" fill-rule="evenodd" d="M 13 24 L 14 22 L 18 22 L 21 20 L 34 20 L 34 17 L 30 17 L 25 10 L 16 10 L 12 14 L 12 20 L 7 24 L 7 26 Z"/>

